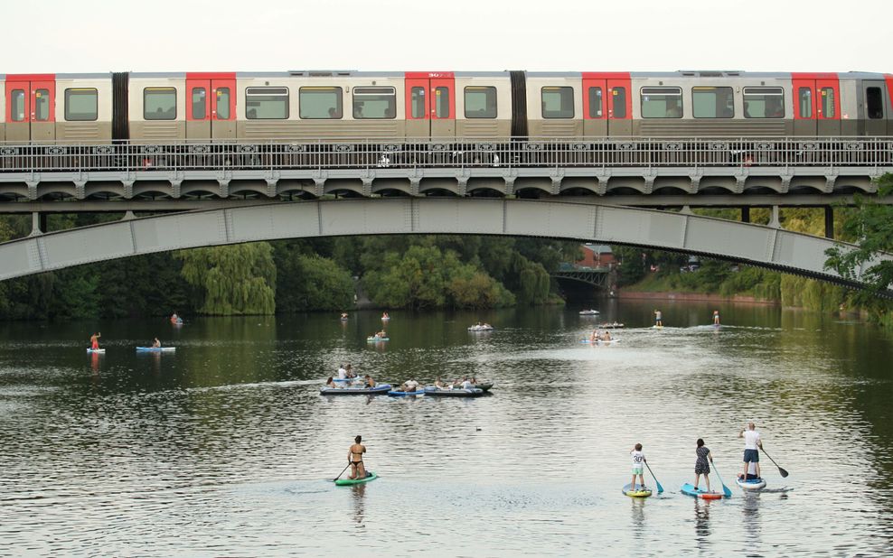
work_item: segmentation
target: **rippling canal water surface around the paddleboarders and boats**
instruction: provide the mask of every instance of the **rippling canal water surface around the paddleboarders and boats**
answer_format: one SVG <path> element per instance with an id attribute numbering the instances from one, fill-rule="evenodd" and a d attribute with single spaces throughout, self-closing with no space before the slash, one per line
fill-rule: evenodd
<path id="1" fill-rule="evenodd" d="M 766 306 L 721 305 L 715 329 L 713 306 L 657 304 L 663 330 L 655 302 L 390 312 L 375 344 L 377 312 L 0 325 L 0 554 L 888 553 L 893 338 Z M 579 343 L 614 320 L 615 345 Z M 136 354 L 156 336 L 176 352 Z M 319 395 L 342 363 L 493 395 Z M 757 495 L 734 484 L 748 421 L 790 471 L 764 454 Z M 356 434 L 380 478 L 336 488 Z M 698 438 L 732 498 L 680 493 Z M 621 494 L 636 442 L 660 496 Z"/>

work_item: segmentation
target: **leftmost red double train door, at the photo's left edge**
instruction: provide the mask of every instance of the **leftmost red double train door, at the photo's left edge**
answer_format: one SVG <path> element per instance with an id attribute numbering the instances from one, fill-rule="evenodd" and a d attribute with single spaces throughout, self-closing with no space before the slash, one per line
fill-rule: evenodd
<path id="1" fill-rule="evenodd" d="M 6 76 L 6 141 L 56 138 L 56 80 L 53 75 Z"/>

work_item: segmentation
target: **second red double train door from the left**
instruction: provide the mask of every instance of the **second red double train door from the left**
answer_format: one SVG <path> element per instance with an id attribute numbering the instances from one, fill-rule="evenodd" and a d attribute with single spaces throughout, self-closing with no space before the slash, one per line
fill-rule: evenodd
<path id="1" fill-rule="evenodd" d="M 235 136 L 235 74 L 187 74 L 186 137 L 208 140 Z"/>

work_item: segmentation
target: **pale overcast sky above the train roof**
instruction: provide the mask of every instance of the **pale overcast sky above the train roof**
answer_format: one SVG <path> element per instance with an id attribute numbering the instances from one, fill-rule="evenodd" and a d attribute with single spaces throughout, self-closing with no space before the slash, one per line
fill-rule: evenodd
<path id="1" fill-rule="evenodd" d="M 3 2 L 0 73 L 893 72 L 891 0 Z"/>

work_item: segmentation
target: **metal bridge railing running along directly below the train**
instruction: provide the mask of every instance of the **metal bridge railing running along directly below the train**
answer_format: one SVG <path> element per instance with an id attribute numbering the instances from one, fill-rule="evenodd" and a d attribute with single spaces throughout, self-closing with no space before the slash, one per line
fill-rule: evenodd
<path id="1" fill-rule="evenodd" d="M 893 165 L 893 137 L 0 144 L 0 172 Z"/>

